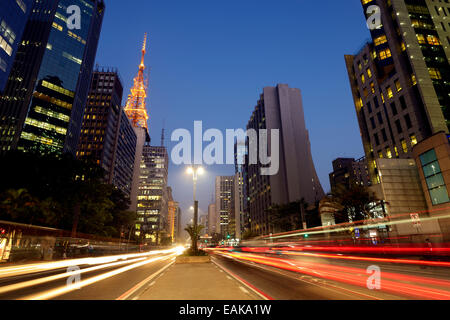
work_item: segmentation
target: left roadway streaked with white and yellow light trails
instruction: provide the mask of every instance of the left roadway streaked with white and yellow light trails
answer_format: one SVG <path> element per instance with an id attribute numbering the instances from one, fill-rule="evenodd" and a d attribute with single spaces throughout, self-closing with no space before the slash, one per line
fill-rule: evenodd
<path id="1" fill-rule="evenodd" d="M 78 282 L 80 288 L 75 283 L 72 283 L 72 286 L 67 285 L 67 267 L 11 277 L 3 275 L 0 279 L 0 300 L 123 299 L 126 298 L 127 292 L 168 267 L 174 259 L 173 253 L 161 253 L 148 257 L 80 265 L 81 274 Z M 49 281 L 44 282 L 47 279 Z"/>

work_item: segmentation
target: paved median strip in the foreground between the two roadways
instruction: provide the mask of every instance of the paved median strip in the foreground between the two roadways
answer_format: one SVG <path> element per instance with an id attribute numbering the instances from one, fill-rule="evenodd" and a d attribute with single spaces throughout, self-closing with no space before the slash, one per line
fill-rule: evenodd
<path id="1" fill-rule="evenodd" d="M 261 300 L 215 264 L 173 264 L 139 300 Z"/>

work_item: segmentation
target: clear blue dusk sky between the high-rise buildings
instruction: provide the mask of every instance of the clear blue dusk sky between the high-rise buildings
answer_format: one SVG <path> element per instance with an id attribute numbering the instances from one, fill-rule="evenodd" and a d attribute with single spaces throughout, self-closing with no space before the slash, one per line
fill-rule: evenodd
<path id="1" fill-rule="evenodd" d="M 369 38 L 359 0 L 105 0 L 97 53 L 100 66 L 117 67 L 124 102 L 149 34 L 148 111 L 153 145 L 166 146 L 177 128 L 193 131 L 245 128 L 262 89 L 278 83 L 299 88 L 316 169 L 329 191 L 331 162 L 361 157 L 363 148 L 344 54 Z M 184 166 L 169 167 L 169 185 L 184 221 L 191 218 L 192 179 Z M 207 212 L 216 175 L 233 166 L 212 166 L 199 180 L 200 214 Z"/>

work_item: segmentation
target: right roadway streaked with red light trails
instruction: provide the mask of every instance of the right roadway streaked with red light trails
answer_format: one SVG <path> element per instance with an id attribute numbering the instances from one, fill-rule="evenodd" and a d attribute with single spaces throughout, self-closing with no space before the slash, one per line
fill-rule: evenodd
<path id="1" fill-rule="evenodd" d="M 450 297 L 450 270 L 448 268 L 423 268 L 379 263 L 382 271 L 381 288 L 370 290 L 365 282 L 364 285 L 353 285 L 349 283 L 351 281 L 344 281 L 346 279 L 352 280 L 353 277 L 355 279 L 363 277 L 365 281 L 369 277 L 365 270 L 371 265 L 370 262 L 329 261 L 328 259 L 292 258 L 283 255 L 262 256 L 277 260 L 286 259 L 293 266 L 302 266 L 302 263 L 304 265 L 306 260 L 306 263 L 317 266 L 317 276 L 303 272 L 303 267 L 298 267 L 298 271 L 294 272 L 263 263 L 230 257 L 227 254 L 214 254 L 213 261 L 275 300 L 406 300 L 432 299 L 435 298 L 433 294 L 441 299 L 449 299 Z M 296 261 L 299 263 L 296 263 Z M 319 264 L 324 265 L 324 262 L 326 262 L 328 268 L 325 274 L 334 272 L 335 269 L 340 270 L 339 268 L 344 268 L 346 271 L 349 269 L 355 273 L 342 276 L 342 279 L 324 277 L 318 267 Z M 314 270 L 314 267 L 312 269 Z M 389 278 L 384 279 L 384 276 L 389 276 Z M 421 287 L 417 287 L 418 293 L 409 289 L 409 286 L 418 285 L 421 285 Z M 411 293 L 415 293 L 415 295 Z M 440 293 L 442 295 L 438 296 Z"/>

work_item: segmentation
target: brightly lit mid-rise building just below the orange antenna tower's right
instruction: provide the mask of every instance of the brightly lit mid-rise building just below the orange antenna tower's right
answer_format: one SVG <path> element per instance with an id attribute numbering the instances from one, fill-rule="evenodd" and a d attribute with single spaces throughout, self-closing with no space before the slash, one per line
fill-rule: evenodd
<path id="1" fill-rule="evenodd" d="M 144 146 L 138 184 L 136 235 L 152 244 L 159 244 L 169 229 L 168 166 L 169 156 L 165 147 Z"/>

